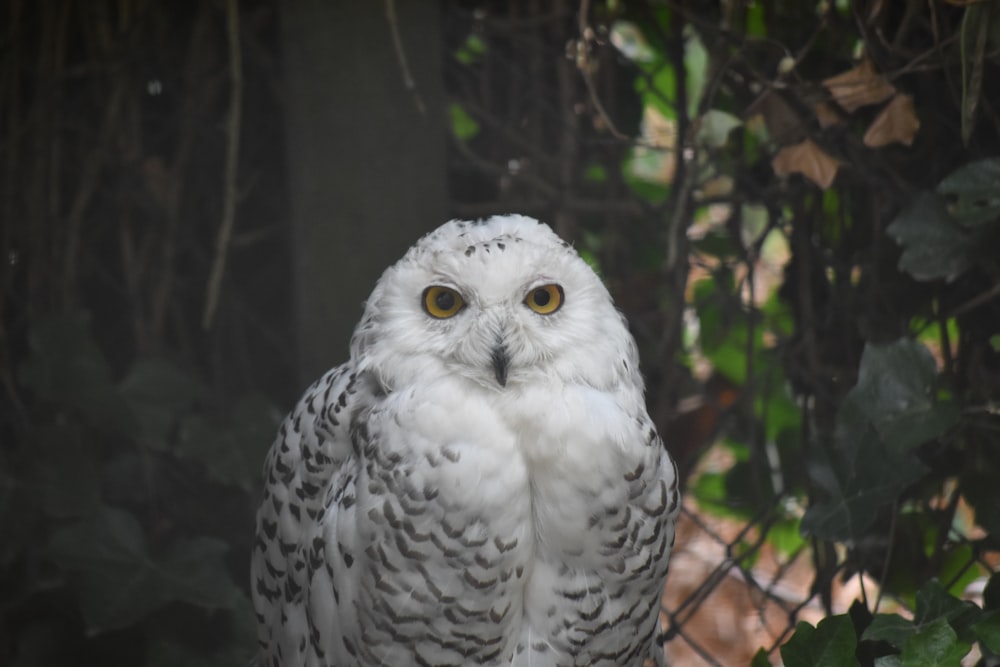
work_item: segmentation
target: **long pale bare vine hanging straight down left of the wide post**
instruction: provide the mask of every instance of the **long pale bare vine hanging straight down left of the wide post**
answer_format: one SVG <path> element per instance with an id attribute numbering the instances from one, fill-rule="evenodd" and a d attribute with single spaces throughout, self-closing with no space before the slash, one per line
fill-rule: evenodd
<path id="1" fill-rule="evenodd" d="M 233 235 L 236 220 L 236 174 L 240 157 L 240 122 L 243 107 L 243 62 L 240 58 L 240 15 L 238 0 L 226 2 L 226 36 L 229 39 L 229 121 L 226 123 L 226 165 L 223 175 L 222 224 L 215 242 L 215 260 L 212 274 L 208 279 L 208 293 L 205 298 L 205 312 L 201 325 L 205 329 L 212 326 L 219 304 L 222 276 L 226 270 L 226 256 L 229 241 Z"/>

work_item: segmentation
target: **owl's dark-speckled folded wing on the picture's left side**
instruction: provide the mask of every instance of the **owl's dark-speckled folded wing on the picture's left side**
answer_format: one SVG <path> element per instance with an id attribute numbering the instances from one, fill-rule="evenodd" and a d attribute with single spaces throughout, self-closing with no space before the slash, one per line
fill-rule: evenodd
<path id="1" fill-rule="evenodd" d="M 304 664 L 306 542 L 325 518 L 329 485 L 352 456 L 352 416 L 370 397 L 352 364 L 334 368 L 285 418 L 267 455 L 250 582 L 260 664 Z"/>

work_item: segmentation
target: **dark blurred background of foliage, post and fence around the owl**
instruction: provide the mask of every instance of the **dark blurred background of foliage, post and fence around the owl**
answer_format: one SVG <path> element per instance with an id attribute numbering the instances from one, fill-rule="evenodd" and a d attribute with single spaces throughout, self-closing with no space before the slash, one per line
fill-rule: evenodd
<path id="1" fill-rule="evenodd" d="M 0 664 L 246 664 L 278 421 L 389 261 L 501 212 L 640 345 L 674 664 L 997 664 L 997 2 L 0 16 Z"/>

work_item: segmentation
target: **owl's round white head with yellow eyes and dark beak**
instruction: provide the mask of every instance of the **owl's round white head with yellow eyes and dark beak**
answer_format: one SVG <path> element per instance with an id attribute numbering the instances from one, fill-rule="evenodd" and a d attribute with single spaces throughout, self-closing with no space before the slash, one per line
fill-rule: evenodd
<path id="1" fill-rule="evenodd" d="M 635 343 L 600 278 L 545 224 L 453 220 L 385 271 L 351 341 L 387 389 L 435 377 L 637 385 Z"/>

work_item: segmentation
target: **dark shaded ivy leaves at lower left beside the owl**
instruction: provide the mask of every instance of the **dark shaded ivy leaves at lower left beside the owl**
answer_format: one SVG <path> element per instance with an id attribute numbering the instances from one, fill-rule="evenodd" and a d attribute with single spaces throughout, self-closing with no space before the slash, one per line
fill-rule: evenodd
<path id="1" fill-rule="evenodd" d="M 0 453 L 0 566 L 8 578 L 23 573 L 10 580 L 8 611 L 58 593 L 75 601 L 88 635 L 145 634 L 150 664 L 185 652 L 203 659 L 162 625 L 180 606 L 222 623 L 228 640 L 213 664 L 245 664 L 252 614 L 245 569 L 234 564 L 248 558 L 246 508 L 276 410 L 259 396 L 216 405 L 197 377 L 161 357 L 136 359 L 116 380 L 78 314 L 42 321 L 30 344 L 18 379 L 37 426 Z M 217 515 L 206 516 L 206 497 L 219 501 Z M 17 655 L 72 651 L 68 641 L 32 649 L 33 636 L 16 639 Z"/>

